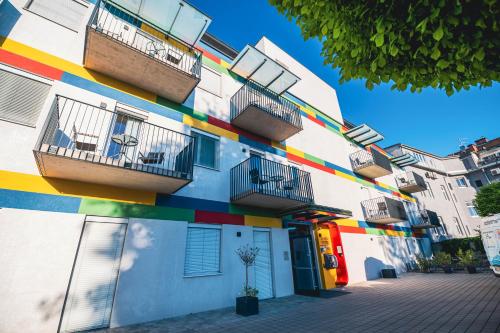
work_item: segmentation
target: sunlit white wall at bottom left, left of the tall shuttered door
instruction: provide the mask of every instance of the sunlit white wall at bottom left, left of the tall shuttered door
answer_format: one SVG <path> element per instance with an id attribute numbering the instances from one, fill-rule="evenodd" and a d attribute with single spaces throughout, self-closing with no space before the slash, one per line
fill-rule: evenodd
<path id="1" fill-rule="evenodd" d="M 0 209 L 0 332 L 57 332 L 83 220 Z"/>

